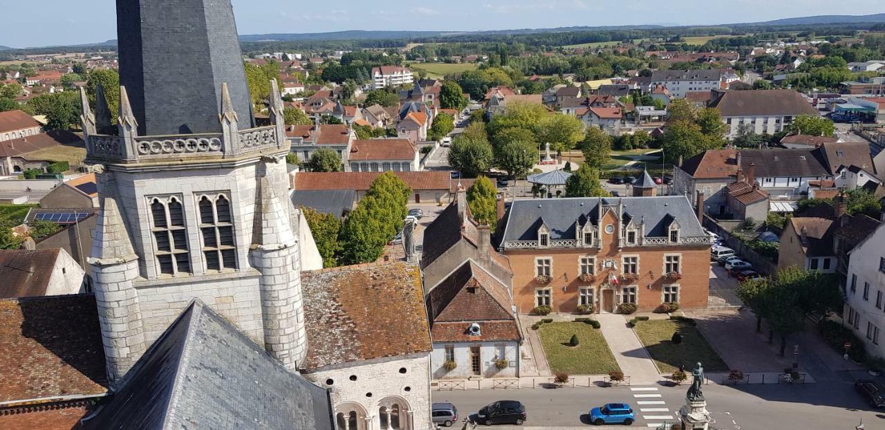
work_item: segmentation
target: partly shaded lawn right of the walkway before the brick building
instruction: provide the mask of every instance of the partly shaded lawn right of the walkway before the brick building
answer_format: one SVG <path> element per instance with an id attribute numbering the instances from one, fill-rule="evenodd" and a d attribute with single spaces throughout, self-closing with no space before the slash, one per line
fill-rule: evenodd
<path id="1" fill-rule="evenodd" d="M 638 321 L 635 331 L 662 373 L 673 372 L 679 365 L 692 369 L 697 362 L 704 365 L 707 372 L 728 371 L 725 361 L 695 326 L 675 319 L 651 319 Z M 670 341 L 676 331 L 682 334 L 679 345 Z"/>

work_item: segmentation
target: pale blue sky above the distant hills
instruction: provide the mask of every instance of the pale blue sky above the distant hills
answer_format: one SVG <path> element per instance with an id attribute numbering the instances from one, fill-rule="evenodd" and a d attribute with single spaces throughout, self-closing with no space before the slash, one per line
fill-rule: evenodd
<path id="1" fill-rule="evenodd" d="M 134 1 L 134 0 L 131 0 Z M 232 0 L 241 35 L 341 30 L 491 30 L 636 24 L 721 24 L 883 12 L 882 0 Z M 4 2 L 0 45 L 116 38 L 112 0 Z M 39 3 L 39 5 L 37 5 Z M 371 7 L 370 7 L 371 5 Z"/>

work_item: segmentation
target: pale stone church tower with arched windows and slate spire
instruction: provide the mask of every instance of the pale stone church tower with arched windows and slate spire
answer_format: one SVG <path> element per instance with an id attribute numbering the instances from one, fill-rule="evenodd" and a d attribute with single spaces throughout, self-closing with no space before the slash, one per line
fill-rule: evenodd
<path id="1" fill-rule="evenodd" d="M 193 298 L 290 370 L 306 355 L 276 89 L 256 127 L 230 0 L 117 0 L 119 111 L 83 95 L 89 265 L 112 384 Z M 116 127 L 113 127 L 116 125 Z"/>

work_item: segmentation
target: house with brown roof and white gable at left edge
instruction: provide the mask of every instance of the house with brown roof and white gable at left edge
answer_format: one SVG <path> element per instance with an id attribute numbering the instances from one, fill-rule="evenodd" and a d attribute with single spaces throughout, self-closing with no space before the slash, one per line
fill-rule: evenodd
<path id="1" fill-rule="evenodd" d="M 85 293 L 80 264 L 65 250 L 0 250 L 0 298 Z"/>

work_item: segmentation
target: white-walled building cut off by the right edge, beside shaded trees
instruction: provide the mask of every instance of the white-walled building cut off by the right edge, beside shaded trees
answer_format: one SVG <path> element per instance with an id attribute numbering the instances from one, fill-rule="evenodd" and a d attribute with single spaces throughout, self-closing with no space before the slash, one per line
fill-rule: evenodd
<path id="1" fill-rule="evenodd" d="M 885 225 L 876 228 L 849 256 L 845 324 L 865 343 L 868 354 L 885 357 Z"/>

